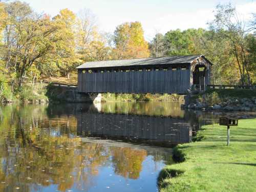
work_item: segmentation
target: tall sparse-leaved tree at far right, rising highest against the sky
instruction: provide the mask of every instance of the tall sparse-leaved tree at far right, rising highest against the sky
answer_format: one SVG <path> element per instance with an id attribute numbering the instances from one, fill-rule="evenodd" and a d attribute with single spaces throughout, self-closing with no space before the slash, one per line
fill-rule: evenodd
<path id="1" fill-rule="evenodd" d="M 246 24 L 242 20 L 236 8 L 231 4 L 221 5 L 216 7 L 215 19 L 210 23 L 210 29 L 219 34 L 219 38 L 228 38 L 231 45 L 230 56 L 236 57 L 236 62 L 239 68 L 241 83 L 251 84 L 249 65 L 246 53 Z"/>

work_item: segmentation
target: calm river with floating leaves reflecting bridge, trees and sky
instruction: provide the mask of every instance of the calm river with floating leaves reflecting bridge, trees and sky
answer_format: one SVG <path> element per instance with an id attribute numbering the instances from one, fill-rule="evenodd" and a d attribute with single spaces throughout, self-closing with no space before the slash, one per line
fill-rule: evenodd
<path id="1" fill-rule="evenodd" d="M 219 115 L 176 102 L 0 105 L 0 191 L 157 191 L 172 147 Z"/>

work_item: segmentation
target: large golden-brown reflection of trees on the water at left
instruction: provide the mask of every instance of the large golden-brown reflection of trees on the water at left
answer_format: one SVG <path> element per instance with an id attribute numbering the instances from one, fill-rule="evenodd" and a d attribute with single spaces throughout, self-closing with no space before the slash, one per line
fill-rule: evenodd
<path id="1" fill-rule="evenodd" d="M 83 186 L 77 187 L 90 187 L 98 166 L 109 155 L 103 153 L 104 148 L 99 144 L 81 144 L 80 138 L 74 135 L 74 117 L 49 120 L 45 109 L 37 106 L 2 108 L 0 191 L 13 191 L 16 187 L 20 191 L 38 190 L 51 184 L 65 191 L 80 181 Z M 59 137 L 56 130 L 65 136 Z"/>

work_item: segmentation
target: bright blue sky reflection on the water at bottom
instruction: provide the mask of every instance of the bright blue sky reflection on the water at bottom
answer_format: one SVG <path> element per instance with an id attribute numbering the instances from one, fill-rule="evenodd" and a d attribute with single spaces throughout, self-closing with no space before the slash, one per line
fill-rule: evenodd
<path id="1" fill-rule="evenodd" d="M 111 159 L 111 157 L 110 157 Z M 142 162 L 142 170 L 137 179 L 129 179 L 115 173 L 113 163 L 98 168 L 98 175 L 93 177 L 90 186 L 83 184 L 83 181 L 75 183 L 67 191 L 157 191 L 156 180 L 159 170 L 164 167 L 163 161 L 155 162 L 153 156 L 146 156 Z M 73 172 L 76 175 L 76 172 Z M 153 182 L 152 182 L 153 181 Z M 42 189 L 42 188 L 41 188 Z M 44 191 L 56 191 L 58 185 L 50 185 L 42 189 Z M 36 190 L 35 190 L 36 191 Z"/>

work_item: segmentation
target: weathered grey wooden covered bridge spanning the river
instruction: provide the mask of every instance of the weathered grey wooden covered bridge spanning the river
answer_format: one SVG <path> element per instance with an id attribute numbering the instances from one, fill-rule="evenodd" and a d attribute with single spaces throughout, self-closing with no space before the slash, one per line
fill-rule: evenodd
<path id="1" fill-rule="evenodd" d="M 178 93 L 210 82 L 203 55 L 86 62 L 78 69 L 81 93 Z"/>

